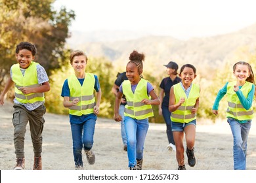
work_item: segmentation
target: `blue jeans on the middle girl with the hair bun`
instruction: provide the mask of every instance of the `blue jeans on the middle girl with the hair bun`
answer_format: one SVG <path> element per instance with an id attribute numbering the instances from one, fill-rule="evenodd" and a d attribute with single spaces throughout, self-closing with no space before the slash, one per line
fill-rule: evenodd
<path id="1" fill-rule="evenodd" d="M 127 154 L 129 167 L 135 167 L 136 159 L 143 158 L 144 142 L 148 132 L 148 118 L 136 120 L 125 116 L 125 132 L 127 135 Z"/>

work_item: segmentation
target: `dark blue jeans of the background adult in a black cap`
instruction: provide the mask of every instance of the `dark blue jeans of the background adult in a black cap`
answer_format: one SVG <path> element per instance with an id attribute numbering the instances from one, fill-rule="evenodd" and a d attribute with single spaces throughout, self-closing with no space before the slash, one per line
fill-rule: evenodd
<path id="1" fill-rule="evenodd" d="M 165 124 L 166 124 L 166 134 L 167 134 L 168 142 L 175 144 L 173 139 L 173 131 L 171 129 L 171 112 L 169 111 L 169 108 L 167 106 L 162 106 L 161 110 L 163 114 L 163 119 L 165 120 Z"/>

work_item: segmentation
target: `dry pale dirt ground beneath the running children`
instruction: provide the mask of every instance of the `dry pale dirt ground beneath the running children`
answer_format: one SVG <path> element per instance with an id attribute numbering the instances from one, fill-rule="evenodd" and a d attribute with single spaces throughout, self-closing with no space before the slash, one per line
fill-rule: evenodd
<path id="1" fill-rule="evenodd" d="M 72 170 L 72 138 L 68 116 L 45 114 L 43 130 L 43 169 Z M 253 120 L 247 148 L 247 169 L 256 170 L 256 120 Z M 232 134 L 225 122 L 215 125 L 200 125 L 196 133 L 195 167 L 196 170 L 231 170 Z M 90 170 L 126 170 L 127 153 L 121 143 L 120 125 L 114 120 L 98 118 L 95 129 L 93 150 L 96 156 L 95 165 L 85 161 L 84 169 Z M 167 150 L 165 124 L 150 124 L 144 146 L 143 169 L 173 170 L 177 169 L 175 152 Z M 26 169 L 32 169 L 33 149 L 29 125 L 25 139 Z M 15 165 L 12 126 L 12 104 L 6 102 L 0 107 L 0 169 L 9 170 Z"/>

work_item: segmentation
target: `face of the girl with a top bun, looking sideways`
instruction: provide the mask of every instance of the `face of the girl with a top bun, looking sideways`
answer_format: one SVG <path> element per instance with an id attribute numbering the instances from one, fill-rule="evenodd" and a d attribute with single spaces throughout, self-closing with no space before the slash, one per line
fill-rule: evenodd
<path id="1" fill-rule="evenodd" d="M 138 84 L 140 81 L 140 74 L 138 67 L 135 65 L 135 63 L 127 63 L 126 66 L 126 76 L 131 82 L 131 84 Z"/>

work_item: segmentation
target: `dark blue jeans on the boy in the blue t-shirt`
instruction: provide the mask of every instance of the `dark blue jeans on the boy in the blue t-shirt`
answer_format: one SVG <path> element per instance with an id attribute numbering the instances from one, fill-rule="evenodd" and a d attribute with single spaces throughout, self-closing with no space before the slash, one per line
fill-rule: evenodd
<path id="1" fill-rule="evenodd" d="M 73 139 L 73 154 L 75 166 L 83 167 L 83 150 L 91 150 L 93 147 L 93 135 L 95 133 L 95 119 L 89 119 L 82 124 L 70 124 Z"/>

